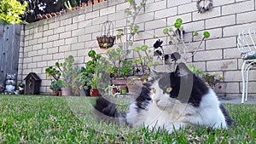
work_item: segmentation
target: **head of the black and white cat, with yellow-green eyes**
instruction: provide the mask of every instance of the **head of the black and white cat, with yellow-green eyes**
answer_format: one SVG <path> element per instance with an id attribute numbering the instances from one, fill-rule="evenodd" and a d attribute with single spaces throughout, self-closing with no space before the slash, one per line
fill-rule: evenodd
<path id="1" fill-rule="evenodd" d="M 183 102 L 181 99 L 189 99 L 181 97 L 180 89 L 185 89 L 183 86 L 192 83 L 189 82 L 189 77 L 193 77 L 193 73 L 187 67 L 177 67 L 176 72 L 160 72 L 154 73 L 158 75 L 154 77 L 154 83 L 151 86 L 151 96 L 153 102 L 162 110 L 172 110 L 175 104 Z M 183 84 L 183 85 L 181 85 Z"/>

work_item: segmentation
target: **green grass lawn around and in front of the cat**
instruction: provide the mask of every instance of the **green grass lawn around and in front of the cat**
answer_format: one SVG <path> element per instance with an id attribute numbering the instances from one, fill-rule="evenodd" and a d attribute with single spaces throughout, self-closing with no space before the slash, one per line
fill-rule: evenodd
<path id="1" fill-rule="evenodd" d="M 90 97 L 0 95 L 0 143 L 255 143 L 256 105 L 225 104 L 236 121 L 229 130 L 191 127 L 166 131 L 100 124 Z M 118 100 L 121 111 L 129 101 Z M 122 103 L 125 103 L 122 105 Z"/>

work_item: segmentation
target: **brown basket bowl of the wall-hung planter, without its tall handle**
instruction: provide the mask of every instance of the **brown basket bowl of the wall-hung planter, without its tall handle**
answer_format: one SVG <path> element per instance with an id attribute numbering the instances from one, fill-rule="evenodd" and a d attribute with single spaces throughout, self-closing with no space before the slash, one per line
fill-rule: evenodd
<path id="1" fill-rule="evenodd" d="M 102 48 L 102 49 L 108 49 L 110 47 L 113 47 L 114 40 L 115 40 L 115 36 L 98 36 L 97 37 L 97 41 L 99 43 L 99 47 Z M 107 47 L 106 47 L 105 43 L 108 44 Z"/>

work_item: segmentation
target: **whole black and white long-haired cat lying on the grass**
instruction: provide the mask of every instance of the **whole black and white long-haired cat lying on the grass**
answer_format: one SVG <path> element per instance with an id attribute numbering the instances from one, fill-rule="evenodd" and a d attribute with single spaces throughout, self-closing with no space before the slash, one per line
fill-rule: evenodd
<path id="1" fill-rule="evenodd" d="M 95 108 L 103 120 L 131 127 L 159 127 L 169 133 L 198 124 L 227 129 L 233 122 L 214 91 L 183 63 L 176 72 L 153 72 L 129 112 L 117 112 L 115 104 L 103 97 Z"/>

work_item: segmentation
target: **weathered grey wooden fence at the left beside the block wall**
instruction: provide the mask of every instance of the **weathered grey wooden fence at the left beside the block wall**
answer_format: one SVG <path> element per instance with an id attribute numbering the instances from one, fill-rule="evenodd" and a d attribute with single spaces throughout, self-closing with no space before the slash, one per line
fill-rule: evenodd
<path id="1" fill-rule="evenodd" d="M 18 75 L 20 51 L 20 24 L 3 25 L 0 22 L 0 84 L 7 73 Z"/>

